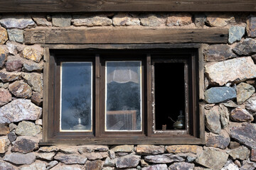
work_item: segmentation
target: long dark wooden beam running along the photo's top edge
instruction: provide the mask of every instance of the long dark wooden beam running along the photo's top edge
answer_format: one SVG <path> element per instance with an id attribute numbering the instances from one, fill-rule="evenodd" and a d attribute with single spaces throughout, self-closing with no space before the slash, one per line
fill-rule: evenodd
<path id="1" fill-rule="evenodd" d="M 1 13 L 102 11 L 256 11 L 255 0 L 8 0 Z"/>

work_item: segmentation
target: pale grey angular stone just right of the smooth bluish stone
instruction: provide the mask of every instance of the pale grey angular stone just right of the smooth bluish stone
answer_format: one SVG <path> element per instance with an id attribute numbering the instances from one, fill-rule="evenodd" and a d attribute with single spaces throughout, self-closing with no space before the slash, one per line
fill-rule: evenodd
<path id="1" fill-rule="evenodd" d="M 237 91 L 238 105 L 241 105 L 242 103 L 244 103 L 244 101 L 250 98 L 252 94 L 254 94 L 255 88 L 250 84 L 246 84 L 242 82 L 238 84 L 238 86 L 236 86 L 236 91 Z"/>

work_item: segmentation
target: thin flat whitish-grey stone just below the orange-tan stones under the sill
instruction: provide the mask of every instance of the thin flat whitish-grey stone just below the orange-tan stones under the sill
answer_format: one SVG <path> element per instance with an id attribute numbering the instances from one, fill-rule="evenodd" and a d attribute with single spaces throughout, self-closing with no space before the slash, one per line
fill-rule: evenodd
<path id="1" fill-rule="evenodd" d="M 146 162 L 155 164 L 169 164 L 171 162 L 183 162 L 186 159 L 176 154 L 157 154 L 144 157 Z"/>

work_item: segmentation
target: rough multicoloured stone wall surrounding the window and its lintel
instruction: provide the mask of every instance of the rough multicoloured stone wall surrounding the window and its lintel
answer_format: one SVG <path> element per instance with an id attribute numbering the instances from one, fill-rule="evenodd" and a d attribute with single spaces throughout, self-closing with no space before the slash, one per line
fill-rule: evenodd
<path id="1" fill-rule="evenodd" d="M 3 15 L 0 19 L 0 169 L 256 169 L 256 15 L 102 13 Z M 38 146 L 43 48 L 23 29 L 49 27 L 228 28 L 204 45 L 206 145 Z"/>

